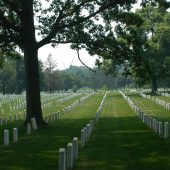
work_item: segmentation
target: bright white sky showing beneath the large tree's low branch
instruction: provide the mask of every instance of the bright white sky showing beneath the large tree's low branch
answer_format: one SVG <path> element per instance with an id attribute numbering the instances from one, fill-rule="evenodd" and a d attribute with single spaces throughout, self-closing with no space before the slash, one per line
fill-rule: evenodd
<path id="1" fill-rule="evenodd" d="M 139 3 L 140 2 L 138 2 L 134 8 L 139 7 Z M 82 66 L 77 57 L 76 51 L 70 49 L 69 44 L 59 45 L 56 48 L 46 45 L 38 51 L 39 59 L 43 62 L 47 60 L 49 54 L 51 54 L 53 59 L 56 61 L 57 69 L 59 70 L 66 69 L 70 65 Z M 90 56 L 86 50 L 80 50 L 80 58 L 86 65 L 92 68 L 95 66 L 97 56 Z"/>

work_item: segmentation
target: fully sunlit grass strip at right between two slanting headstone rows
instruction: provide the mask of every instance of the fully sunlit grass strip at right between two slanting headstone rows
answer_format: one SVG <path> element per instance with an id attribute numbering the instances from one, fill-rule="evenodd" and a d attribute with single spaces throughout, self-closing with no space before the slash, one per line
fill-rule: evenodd
<path id="1" fill-rule="evenodd" d="M 165 109 L 163 106 L 153 102 L 150 99 L 145 99 L 136 93 L 126 93 L 126 95 L 130 97 L 135 106 L 141 109 L 141 111 L 151 115 L 159 121 L 170 122 L 170 111 Z"/>

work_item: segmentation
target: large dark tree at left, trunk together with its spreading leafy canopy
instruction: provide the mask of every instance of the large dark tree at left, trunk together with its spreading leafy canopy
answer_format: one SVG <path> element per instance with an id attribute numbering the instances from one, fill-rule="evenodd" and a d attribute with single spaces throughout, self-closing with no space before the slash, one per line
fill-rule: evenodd
<path id="1" fill-rule="evenodd" d="M 155 2 L 167 4 L 165 0 Z M 90 54 L 105 59 L 114 56 L 115 62 L 123 62 L 122 56 L 129 57 L 129 49 L 121 37 L 114 36 L 112 22 L 123 26 L 139 25 L 140 18 L 130 11 L 134 3 L 136 0 L 0 1 L 0 48 L 5 53 L 19 47 L 24 53 L 25 123 L 35 117 L 38 124 L 45 124 L 40 100 L 38 49 L 46 44 L 71 43 L 76 50 L 85 47 Z M 144 5 L 147 3 L 143 1 Z M 117 27 L 117 31 L 121 29 Z"/>

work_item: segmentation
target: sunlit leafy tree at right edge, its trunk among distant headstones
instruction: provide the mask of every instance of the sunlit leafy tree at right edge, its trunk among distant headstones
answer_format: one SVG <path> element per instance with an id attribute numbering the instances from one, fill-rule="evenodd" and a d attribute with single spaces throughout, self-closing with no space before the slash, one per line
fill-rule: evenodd
<path id="1" fill-rule="evenodd" d="M 140 53 L 135 54 L 136 60 L 131 68 L 136 77 L 151 83 L 152 93 L 156 94 L 157 80 L 165 78 L 169 72 L 170 14 L 163 8 L 151 5 L 138 13 L 144 22 L 140 28 L 135 28 L 134 32 L 137 42 L 145 39 L 145 47 L 134 46 Z"/>

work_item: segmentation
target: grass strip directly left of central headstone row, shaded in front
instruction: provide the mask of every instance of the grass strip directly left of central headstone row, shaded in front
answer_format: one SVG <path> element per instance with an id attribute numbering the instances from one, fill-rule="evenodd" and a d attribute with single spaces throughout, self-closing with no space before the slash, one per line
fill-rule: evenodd
<path id="1" fill-rule="evenodd" d="M 48 127 L 23 136 L 18 143 L 0 146 L 0 170 L 58 169 L 58 150 L 66 147 L 73 137 L 80 138 L 80 130 L 94 118 L 104 94 L 90 97 L 66 117 Z"/>

